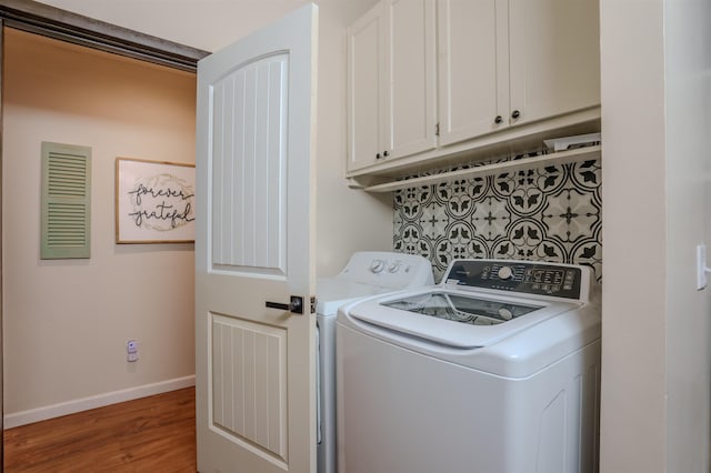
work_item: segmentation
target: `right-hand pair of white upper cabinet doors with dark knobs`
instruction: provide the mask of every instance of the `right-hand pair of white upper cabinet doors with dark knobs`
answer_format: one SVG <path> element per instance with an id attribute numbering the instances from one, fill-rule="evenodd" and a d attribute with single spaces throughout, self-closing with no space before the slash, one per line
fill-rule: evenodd
<path id="1" fill-rule="evenodd" d="M 440 145 L 600 103 L 595 0 L 439 0 Z"/>

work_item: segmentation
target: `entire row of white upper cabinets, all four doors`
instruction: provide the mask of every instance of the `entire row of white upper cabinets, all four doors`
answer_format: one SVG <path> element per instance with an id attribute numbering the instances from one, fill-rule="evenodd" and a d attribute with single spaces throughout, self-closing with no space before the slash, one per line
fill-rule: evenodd
<path id="1" fill-rule="evenodd" d="M 599 127 L 599 29 L 598 0 L 382 0 L 349 29 L 349 175 Z"/>

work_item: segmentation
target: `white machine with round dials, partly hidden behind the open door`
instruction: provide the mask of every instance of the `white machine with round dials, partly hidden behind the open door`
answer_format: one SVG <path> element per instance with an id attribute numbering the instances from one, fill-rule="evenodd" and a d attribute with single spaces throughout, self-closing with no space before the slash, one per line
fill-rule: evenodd
<path id="1" fill-rule="evenodd" d="M 333 278 L 317 281 L 317 464 L 336 473 L 336 318 L 347 302 L 408 288 L 432 285 L 432 264 L 422 256 L 382 251 L 353 253 Z"/>

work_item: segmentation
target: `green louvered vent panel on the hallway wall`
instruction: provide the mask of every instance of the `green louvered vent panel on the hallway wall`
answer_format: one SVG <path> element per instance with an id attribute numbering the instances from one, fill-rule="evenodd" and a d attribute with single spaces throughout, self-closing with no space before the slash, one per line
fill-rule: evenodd
<path id="1" fill-rule="evenodd" d="M 91 148 L 42 143 L 43 260 L 90 258 Z"/>

